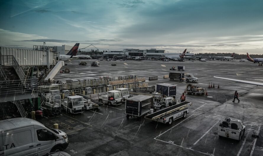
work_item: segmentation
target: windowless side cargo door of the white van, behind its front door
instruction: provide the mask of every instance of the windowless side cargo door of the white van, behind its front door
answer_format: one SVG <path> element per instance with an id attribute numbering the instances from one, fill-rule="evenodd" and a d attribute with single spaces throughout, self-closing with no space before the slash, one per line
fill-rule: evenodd
<path id="1" fill-rule="evenodd" d="M 34 126 L 9 130 L 2 134 L 3 146 L 0 150 L 4 151 L 4 155 L 35 155 Z"/>

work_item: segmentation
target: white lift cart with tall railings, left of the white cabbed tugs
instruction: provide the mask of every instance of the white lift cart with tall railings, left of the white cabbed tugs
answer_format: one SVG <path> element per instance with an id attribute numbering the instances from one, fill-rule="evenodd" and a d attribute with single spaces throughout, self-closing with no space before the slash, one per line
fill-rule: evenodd
<path id="1" fill-rule="evenodd" d="M 41 110 L 48 116 L 61 114 L 60 95 L 54 93 L 45 94 L 45 100 L 41 103 Z"/>

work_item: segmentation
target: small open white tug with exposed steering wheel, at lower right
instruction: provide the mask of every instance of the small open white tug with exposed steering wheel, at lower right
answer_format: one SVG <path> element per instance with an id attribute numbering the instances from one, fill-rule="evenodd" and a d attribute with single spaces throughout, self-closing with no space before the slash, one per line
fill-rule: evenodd
<path id="1" fill-rule="evenodd" d="M 240 141 L 245 134 L 245 127 L 241 120 L 225 118 L 225 121 L 219 124 L 217 135 Z"/>

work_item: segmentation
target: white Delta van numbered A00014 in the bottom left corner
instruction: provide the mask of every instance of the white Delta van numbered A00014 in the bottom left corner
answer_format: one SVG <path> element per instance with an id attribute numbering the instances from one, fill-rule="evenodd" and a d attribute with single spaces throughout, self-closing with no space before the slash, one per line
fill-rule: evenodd
<path id="1" fill-rule="evenodd" d="M 68 145 L 65 132 L 38 121 L 22 117 L 0 121 L 0 155 L 44 155 Z"/>

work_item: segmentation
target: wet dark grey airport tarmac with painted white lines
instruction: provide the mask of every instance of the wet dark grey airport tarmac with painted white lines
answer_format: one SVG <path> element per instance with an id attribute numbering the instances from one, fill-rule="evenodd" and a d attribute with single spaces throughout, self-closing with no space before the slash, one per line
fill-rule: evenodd
<path id="1" fill-rule="evenodd" d="M 79 66 L 86 61 L 87 66 Z M 69 146 L 65 152 L 70 155 L 263 155 L 262 118 L 263 93 L 261 86 L 217 79 L 213 76 L 262 82 L 262 67 L 251 62 L 207 61 L 207 62 L 163 62 L 163 61 L 116 61 L 100 62 L 100 67 L 90 67 L 97 60 L 72 60 L 65 62 L 70 73 L 58 73 L 55 80 L 66 78 L 92 79 L 110 75 L 113 77 L 137 75 L 145 77 L 149 86 L 156 83 L 177 85 L 180 99 L 187 82 L 163 79 L 172 66 L 185 66 L 185 73 L 198 78 L 208 96 L 186 95 L 192 102 L 185 119 L 178 119 L 171 126 L 151 122 L 144 117 L 126 119 L 125 104 L 85 111 L 82 114 L 66 114 L 43 119 L 44 125 L 59 123 L 65 131 Z M 149 76 L 158 80 L 149 81 Z M 208 88 L 209 82 L 215 88 Z M 219 89 L 217 88 L 219 84 Z M 232 102 L 235 90 L 240 102 Z M 219 138 L 217 127 L 226 117 L 243 121 L 246 126 L 241 141 Z M 253 138 L 251 135 L 259 135 Z"/>

